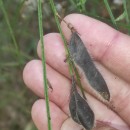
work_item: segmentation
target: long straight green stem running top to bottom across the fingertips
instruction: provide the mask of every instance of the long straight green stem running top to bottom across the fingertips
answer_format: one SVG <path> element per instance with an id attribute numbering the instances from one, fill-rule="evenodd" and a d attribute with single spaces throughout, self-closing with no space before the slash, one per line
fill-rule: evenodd
<path id="1" fill-rule="evenodd" d="M 46 60 L 45 60 L 45 52 L 44 52 L 43 29 L 42 29 L 43 26 L 42 26 L 41 0 L 38 0 L 38 21 L 39 21 L 39 33 L 40 33 L 41 50 L 42 50 L 43 81 L 44 81 L 44 94 L 46 100 L 48 130 L 51 130 L 52 126 L 51 126 L 48 86 L 47 86 L 47 77 L 46 77 Z"/>

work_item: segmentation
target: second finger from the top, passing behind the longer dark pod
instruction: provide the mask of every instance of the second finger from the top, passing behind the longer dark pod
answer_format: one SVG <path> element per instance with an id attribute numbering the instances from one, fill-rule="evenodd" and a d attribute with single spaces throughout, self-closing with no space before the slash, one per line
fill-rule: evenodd
<path id="1" fill-rule="evenodd" d="M 63 42 L 60 39 L 58 34 L 48 34 L 44 37 L 45 48 L 46 48 L 46 60 L 47 63 L 60 73 L 69 77 L 69 72 L 67 71 L 67 63 L 64 63 L 65 51 L 63 47 Z M 56 43 L 56 45 L 53 45 Z M 52 52 L 53 49 L 53 52 Z M 58 50 L 58 51 L 57 51 Z M 41 55 L 40 46 L 38 45 L 38 54 Z M 55 58 L 55 64 L 53 59 Z M 109 70 L 105 69 L 103 66 L 100 68 L 100 64 L 97 64 L 97 68 L 100 69 L 101 74 L 103 75 L 107 85 L 109 87 L 111 102 L 113 102 L 114 107 L 116 108 L 117 113 L 130 124 L 130 118 L 127 116 L 129 113 L 130 105 L 130 87 L 129 83 L 125 82 L 118 76 L 114 75 Z M 66 68 L 67 67 L 67 68 Z M 81 74 L 82 75 L 82 74 Z M 84 84 L 84 87 L 87 87 Z"/>

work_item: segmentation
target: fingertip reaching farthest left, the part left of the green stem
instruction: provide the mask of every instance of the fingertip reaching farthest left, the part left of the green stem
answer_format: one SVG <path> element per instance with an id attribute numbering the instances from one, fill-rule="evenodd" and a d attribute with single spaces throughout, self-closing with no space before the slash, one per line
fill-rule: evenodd
<path id="1" fill-rule="evenodd" d="M 40 60 L 28 62 L 23 70 L 23 80 L 25 85 L 34 93 L 43 97 L 42 63 Z"/>

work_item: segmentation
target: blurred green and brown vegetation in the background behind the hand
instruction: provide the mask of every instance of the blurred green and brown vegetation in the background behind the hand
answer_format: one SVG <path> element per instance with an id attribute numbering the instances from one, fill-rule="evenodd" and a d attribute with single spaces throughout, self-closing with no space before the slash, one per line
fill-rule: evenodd
<path id="1" fill-rule="evenodd" d="M 82 13 L 129 35 L 130 1 L 55 0 L 61 17 Z M 121 1 L 121 0 L 119 0 Z M 109 2 L 109 3 L 107 3 Z M 36 0 L 0 0 L 0 130 L 36 130 L 30 110 L 38 98 L 24 85 L 22 71 L 36 54 L 39 40 Z M 43 0 L 43 29 L 57 31 L 48 1 Z"/>

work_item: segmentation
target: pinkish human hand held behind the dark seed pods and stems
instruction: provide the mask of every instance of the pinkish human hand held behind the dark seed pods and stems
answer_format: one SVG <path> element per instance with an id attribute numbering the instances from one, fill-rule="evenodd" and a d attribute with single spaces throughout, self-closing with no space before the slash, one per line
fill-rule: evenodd
<path id="1" fill-rule="evenodd" d="M 108 85 L 111 102 L 115 107 L 115 112 L 109 110 L 103 103 L 89 95 L 85 89 L 88 104 L 94 111 L 96 121 L 107 124 L 107 126 L 97 126 L 94 130 L 114 130 L 114 128 L 129 130 L 130 37 L 81 14 L 71 14 L 65 17 L 65 20 L 76 28 L 90 55 L 96 60 L 96 67 Z M 61 26 L 69 41 L 70 30 L 64 23 L 61 23 Z M 62 40 L 59 34 L 51 33 L 44 36 L 44 41 L 47 77 L 53 87 L 53 92 L 49 90 L 52 128 L 53 130 L 81 130 L 80 125 L 70 120 L 68 105 L 71 82 L 68 65 L 64 63 L 65 51 Z M 38 55 L 41 58 L 39 44 Z M 27 63 L 23 71 L 23 79 L 28 88 L 43 98 L 34 103 L 32 118 L 39 130 L 47 130 L 41 60 Z M 86 88 L 85 85 L 84 88 Z"/>

